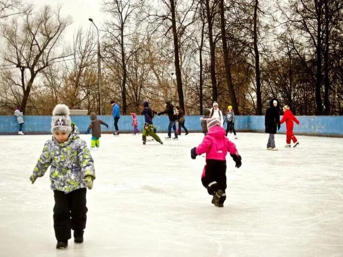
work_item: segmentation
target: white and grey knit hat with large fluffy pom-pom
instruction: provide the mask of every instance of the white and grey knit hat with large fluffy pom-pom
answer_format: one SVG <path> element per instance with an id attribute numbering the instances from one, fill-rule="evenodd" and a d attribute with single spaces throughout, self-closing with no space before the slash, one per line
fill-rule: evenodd
<path id="1" fill-rule="evenodd" d="M 72 132 L 72 121 L 69 116 L 69 108 L 65 104 L 57 104 L 52 111 L 51 133 L 55 131 Z"/>

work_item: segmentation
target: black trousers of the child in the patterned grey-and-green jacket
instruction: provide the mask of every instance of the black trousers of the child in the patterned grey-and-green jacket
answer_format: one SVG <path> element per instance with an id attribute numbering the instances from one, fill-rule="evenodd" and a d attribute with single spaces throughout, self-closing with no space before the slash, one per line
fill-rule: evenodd
<path id="1" fill-rule="evenodd" d="M 80 234 L 86 228 L 87 207 L 86 188 L 79 188 L 65 194 L 54 190 L 53 197 L 53 228 L 57 241 L 67 241 L 71 238 L 71 229 Z"/>

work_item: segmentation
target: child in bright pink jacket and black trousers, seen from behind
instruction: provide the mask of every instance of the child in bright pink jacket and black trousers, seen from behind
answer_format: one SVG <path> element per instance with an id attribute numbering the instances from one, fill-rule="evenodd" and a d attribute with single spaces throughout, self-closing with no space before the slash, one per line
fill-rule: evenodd
<path id="1" fill-rule="evenodd" d="M 225 130 L 221 127 L 221 121 L 216 118 L 207 120 L 208 133 L 201 144 L 191 149 L 191 158 L 206 153 L 206 164 L 202 171 L 201 182 L 210 195 L 213 195 L 212 204 L 223 207 L 226 199 L 226 155 L 227 152 L 239 168 L 242 165 L 242 157 L 239 155 L 236 145 L 225 137 Z"/>

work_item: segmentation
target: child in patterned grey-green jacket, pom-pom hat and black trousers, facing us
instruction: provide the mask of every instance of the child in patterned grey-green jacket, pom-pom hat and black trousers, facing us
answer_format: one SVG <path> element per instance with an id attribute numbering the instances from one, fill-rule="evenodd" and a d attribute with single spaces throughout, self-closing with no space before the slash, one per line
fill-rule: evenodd
<path id="1" fill-rule="evenodd" d="M 54 193 L 53 227 L 57 249 L 65 249 L 74 231 L 74 242 L 83 242 L 86 227 L 86 187 L 92 189 L 95 179 L 94 162 L 87 144 L 72 126 L 69 108 L 55 106 L 52 112 L 52 139 L 46 141 L 43 153 L 30 176 L 32 184 L 50 168 L 51 189 Z"/>

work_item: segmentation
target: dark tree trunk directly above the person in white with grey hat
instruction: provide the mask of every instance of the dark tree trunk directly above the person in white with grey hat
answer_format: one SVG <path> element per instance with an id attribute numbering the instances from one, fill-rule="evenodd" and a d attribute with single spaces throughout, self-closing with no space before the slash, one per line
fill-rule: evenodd
<path id="1" fill-rule="evenodd" d="M 209 0 L 206 0 L 206 16 L 207 16 L 207 26 L 208 26 L 208 37 L 210 44 L 210 59 L 211 59 L 211 82 L 212 82 L 212 100 L 217 101 L 218 90 L 217 90 L 217 80 L 216 80 L 216 49 L 213 41 L 213 17 L 210 11 Z"/>

